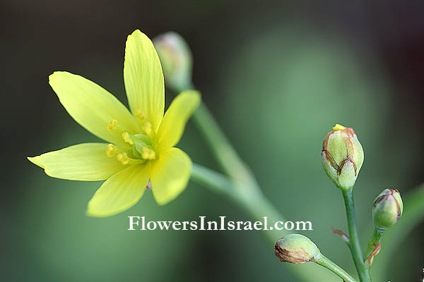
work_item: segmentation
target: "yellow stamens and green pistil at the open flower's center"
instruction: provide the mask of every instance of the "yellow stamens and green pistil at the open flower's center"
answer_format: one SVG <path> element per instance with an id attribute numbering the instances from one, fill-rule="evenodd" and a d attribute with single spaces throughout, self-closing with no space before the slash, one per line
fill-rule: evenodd
<path id="1" fill-rule="evenodd" d="M 141 133 L 129 133 L 116 120 L 107 124 L 107 130 L 119 134 L 126 145 L 117 147 L 109 144 L 107 145 L 106 155 L 116 157 L 123 165 L 142 164 L 159 157 L 158 152 L 155 151 L 157 142 L 152 124 L 146 118 L 146 114 L 141 113 L 141 111 L 136 111 L 136 118 L 141 124 Z"/>

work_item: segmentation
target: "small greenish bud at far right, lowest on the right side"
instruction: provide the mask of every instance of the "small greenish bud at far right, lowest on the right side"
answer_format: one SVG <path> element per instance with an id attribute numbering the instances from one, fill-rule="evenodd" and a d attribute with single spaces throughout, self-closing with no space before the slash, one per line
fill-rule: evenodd
<path id="1" fill-rule="evenodd" d="M 401 218 L 404 203 L 401 194 L 396 189 L 386 189 L 381 192 L 372 204 L 372 219 L 380 230 L 386 230 Z"/>

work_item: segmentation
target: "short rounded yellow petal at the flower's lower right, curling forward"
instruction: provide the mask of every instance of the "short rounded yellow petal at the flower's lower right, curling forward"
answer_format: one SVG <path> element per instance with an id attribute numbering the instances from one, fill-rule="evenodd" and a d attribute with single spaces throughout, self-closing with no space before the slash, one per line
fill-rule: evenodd
<path id="1" fill-rule="evenodd" d="M 158 204 L 174 200 L 187 186 L 192 173 L 192 160 L 177 148 L 160 152 L 151 174 L 153 197 Z"/>

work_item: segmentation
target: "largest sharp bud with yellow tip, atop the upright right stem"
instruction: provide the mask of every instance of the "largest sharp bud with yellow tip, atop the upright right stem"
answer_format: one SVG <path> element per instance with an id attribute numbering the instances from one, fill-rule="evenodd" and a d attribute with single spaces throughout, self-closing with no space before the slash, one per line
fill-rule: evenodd
<path id="1" fill-rule="evenodd" d="M 352 128 L 336 124 L 322 145 L 322 167 L 338 188 L 349 190 L 355 184 L 364 152 Z"/>

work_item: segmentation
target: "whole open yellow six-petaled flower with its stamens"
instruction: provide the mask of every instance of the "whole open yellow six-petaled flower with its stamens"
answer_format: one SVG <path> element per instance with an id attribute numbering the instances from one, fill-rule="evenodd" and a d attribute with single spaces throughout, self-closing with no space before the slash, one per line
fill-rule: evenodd
<path id="1" fill-rule="evenodd" d="M 175 148 L 200 94 L 187 90 L 169 109 L 158 54 L 150 39 L 135 30 L 126 40 L 126 107 L 94 82 L 54 72 L 49 84 L 66 111 L 90 133 L 110 142 L 83 143 L 29 157 L 48 176 L 106 180 L 88 203 L 90 216 L 111 216 L 132 207 L 151 187 L 158 204 L 174 200 L 187 186 L 192 160 Z"/>

